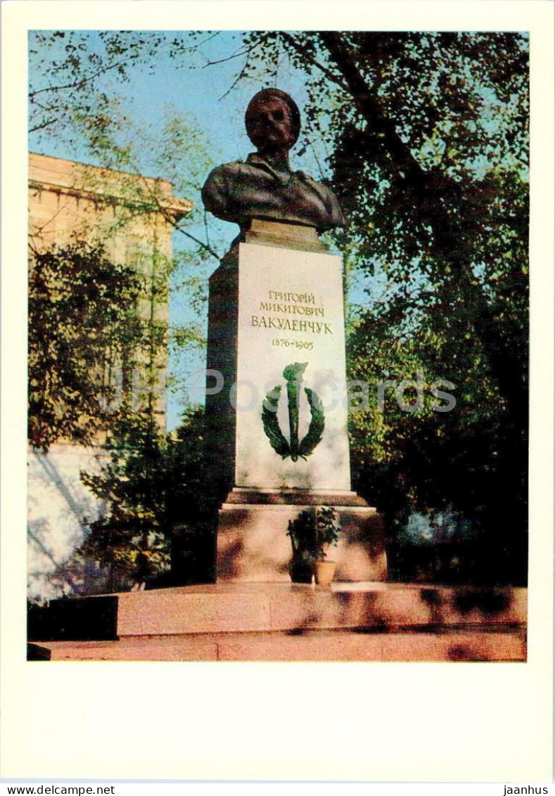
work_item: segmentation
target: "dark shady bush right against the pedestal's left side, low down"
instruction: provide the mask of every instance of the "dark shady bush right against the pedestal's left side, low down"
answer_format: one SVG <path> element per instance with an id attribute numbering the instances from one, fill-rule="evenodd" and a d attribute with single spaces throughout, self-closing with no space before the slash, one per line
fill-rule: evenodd
<path id="1" fill-rule="evenodd" d="M 203 412 L 189 412 L 174 435 L 162 434 L 148 413 L 124 413 L 106 448 L 101 473 L 81 473 L 106 510 L 80 553 L 124 580 L 165 572 L 166 583 L 213 579 L 215 506 L 204 487 Z"/>

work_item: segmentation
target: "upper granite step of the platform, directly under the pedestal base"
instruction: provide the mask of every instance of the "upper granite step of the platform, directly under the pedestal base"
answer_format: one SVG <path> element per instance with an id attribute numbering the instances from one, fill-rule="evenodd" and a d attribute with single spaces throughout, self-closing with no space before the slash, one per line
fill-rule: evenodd
<path id="1" fill-rule="evenodd" d="M 57 600 L 29 641 L 302 630 L 518 630 L 526 589 L 409 583 L 217 583 Z"/>

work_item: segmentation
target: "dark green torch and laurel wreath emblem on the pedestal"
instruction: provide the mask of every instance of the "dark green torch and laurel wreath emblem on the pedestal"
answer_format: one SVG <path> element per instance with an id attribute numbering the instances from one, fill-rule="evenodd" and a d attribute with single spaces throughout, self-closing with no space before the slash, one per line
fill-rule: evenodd
<path id="1" fill-rule="evenodd" d="M 287 381 L 287 408 L 289 410 L 289 442 L 283 436 L 279 428 L 277 408 L 281 397 L 281 384 L 276 384 L 268 392 L 262 405 L 262 424 L 264 434 L 268 437 L 270 444 L 276 454 L 281 458 L 291 456 L 291 461 L 298 461 L 299 457 L 307 460 L 307 456 L 315 450 L 322 439 L 324 432 L 324 409 L 322 401 L 314 390 L 304 387 L 304 392 L 308 399 L 311 409 L 311 424 L 307 434 L 299 442 L 299 402 L 300 386 L 303 381 L 303 373 L 307 368 L 308 362 L 295 362 L 287 365 L 283 370 L 283 378 Z"/>

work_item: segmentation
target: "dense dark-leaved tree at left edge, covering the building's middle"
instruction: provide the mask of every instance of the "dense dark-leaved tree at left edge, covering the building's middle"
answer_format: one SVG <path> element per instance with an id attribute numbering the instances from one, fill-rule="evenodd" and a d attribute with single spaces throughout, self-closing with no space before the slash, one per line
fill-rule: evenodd
<path id="1" fill-rule="evenodd" d="M 136 313 L 143 292 L 141 276 L 107 259 L 99 244 L 32 252 L 28 426 L 34 448 L 46 451 L 57 439 L 90 444 L 106 429 L 117 390 L 110 369 L 126 361 L 129 376 L 156 334 Z"/>

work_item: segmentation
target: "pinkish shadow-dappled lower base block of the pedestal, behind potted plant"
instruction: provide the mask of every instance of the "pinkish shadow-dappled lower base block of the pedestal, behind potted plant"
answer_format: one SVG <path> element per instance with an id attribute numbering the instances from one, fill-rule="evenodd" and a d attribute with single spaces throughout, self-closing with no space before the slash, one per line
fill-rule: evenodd
<path id="1" fill-rule="evenodd" d="M 381 517 L 356 493 L 235 489 L 219 512 L 218 582 L 291 582 L 287 525 L 311 505 L 333 505 L 338 513 L 341 540 L 327 556 L 337 562 L 336 581 L 387 579 Z"/>

